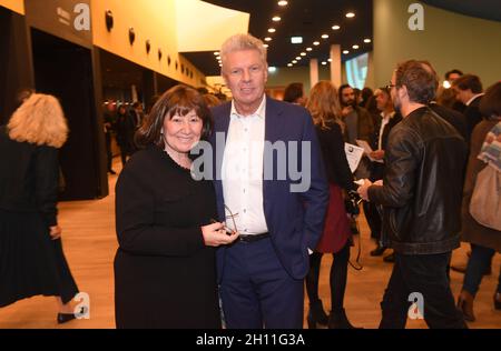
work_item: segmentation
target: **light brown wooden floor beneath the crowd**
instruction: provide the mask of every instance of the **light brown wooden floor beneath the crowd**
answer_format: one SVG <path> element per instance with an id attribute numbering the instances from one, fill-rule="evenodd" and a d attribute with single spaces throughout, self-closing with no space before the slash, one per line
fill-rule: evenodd
<path id="1" fill-rule="evenodd" d="M 115 169 L 119 169 L 117 161 Z M 109 179 L 111 194 L 102 200 L 60 203 L 59 221 L 63 229 L 66 257 L 80 291 L 90 295 L 90 319 L 79 320 L 58 327 L 56 323 L 57 305 L 53 298 L 37 297 L 19 301 L 0 309 L 0 329 L 17 328 L 67 328 L 101 329 L 115 328 L 114 312 L 114 271 L 112 261 L 117 249 L 115 234 L 114 189 L 117 176 Z M 387 283 L 392 264 L 382 258 L 372 258 L 369 252 L 374 243 L 369 239 L 367 225 L 362 218 L 362 261 L 364 269 L 355 271 L 350 268 L 345 308 L 353 324 L 364 328 L 377 328 L 381 311 L 380 301 Z M 352 249 L 352 257 L 355 249 Z M 453 263 L 466 260 L 466 245 L 453 254 Z M 328 301 L 328 271 L 332 259 L 325 257 L 321 272 L 321 298 L 326 309 Z M 498 282 L 501 259 L 494 258 L 493 273 L 484 277 L 475 299 L 477 321 L 471 328 L 501 328 L 501 311 L 493 308 L 492 297 Z M 452 272 L 452 290 L 456 297 L 463 275 Z M 161 301 L 158 301 L 161 303 Z M 305 315 L 307 301 L 305 301 Z M 306 324 L 305 324 L 306 325 Z M 407 328 L 426 328 L 422 321 L 410 321 Z"/>

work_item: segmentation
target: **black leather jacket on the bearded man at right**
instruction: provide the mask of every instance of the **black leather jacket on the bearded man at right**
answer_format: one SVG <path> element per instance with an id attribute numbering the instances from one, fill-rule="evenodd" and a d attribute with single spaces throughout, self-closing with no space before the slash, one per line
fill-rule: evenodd
<path id="1" fill-rule="evenodd" d="M 466 144 L 430 108 L 409 114 L 390 133 L 383 187 L 369 199 L 384 205 L 383 238 L 401 254 L 438 254 L 460 245 Z"/>

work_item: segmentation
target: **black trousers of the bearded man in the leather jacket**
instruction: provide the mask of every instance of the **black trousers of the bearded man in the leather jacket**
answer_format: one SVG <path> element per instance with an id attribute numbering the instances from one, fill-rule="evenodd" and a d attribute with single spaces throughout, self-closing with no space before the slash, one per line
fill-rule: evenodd
<path id="1" fill-rule="evenodd" d="M 428 327 L 468 328 L 461 312 L 455 308 L 449 284 L 446 267 L 450 258 L 450 252 L 423 255 L 395 253 L 393 272 L 381 302 L 381 329 L 405 328 L 411 307 L 409 298 L 413 292 L 423 297 L 423 317 Z"/>

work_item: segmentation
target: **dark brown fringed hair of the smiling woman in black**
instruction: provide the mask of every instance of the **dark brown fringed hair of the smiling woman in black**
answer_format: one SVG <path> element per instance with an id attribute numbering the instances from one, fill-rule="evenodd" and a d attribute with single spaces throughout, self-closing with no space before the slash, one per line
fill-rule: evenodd
<path id="1" fill-rule="evenodd" d="M 193 88 L 176 86 L 164 93 L 153 107 L 150 113 L 145 118 L 141 128 L 136 133 L 136 144 L 139 148 L 157 146 L 165 148 L 161 129 L 166 118 L 174 116 L 186 116 L 195 110 L 202 119 L 202 140 L 206 140 L 213 130 L 213 116 L 203 96 Z"/>

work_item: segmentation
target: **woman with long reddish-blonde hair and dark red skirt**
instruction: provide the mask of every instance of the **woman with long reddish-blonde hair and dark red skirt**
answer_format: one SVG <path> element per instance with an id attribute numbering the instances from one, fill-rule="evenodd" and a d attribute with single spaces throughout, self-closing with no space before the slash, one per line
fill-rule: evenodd
<path id="1" fill-rule="evenodd" d="M 344 152 L 344 123 L 340 118 L 336 88 L 330 81 L 318 82 L 311 91 L 306 108 L 316 127 L 331 193 L 324 232 L 315 252 L 310 257 L 311 268 L 306 277 L 308 328 L 314 329 L 318 323 L 327 324 L 330 329 L 352 329 L 354 327 L 347 320 L 343 308 L 352 233 L 342 190 L 355 190 L 355 185 Z M 324 253 L 332 253 L 335 258 L 335 264 L 331 267 L 332 309 L 328 319 L 318 298 L 320 267 Z"/>

